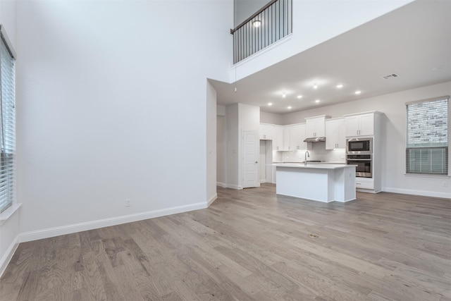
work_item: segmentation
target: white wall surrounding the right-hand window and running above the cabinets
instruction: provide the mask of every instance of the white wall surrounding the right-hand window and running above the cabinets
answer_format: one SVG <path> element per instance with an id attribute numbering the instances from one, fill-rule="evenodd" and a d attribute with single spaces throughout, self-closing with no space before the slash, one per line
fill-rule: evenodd
<path id="1" fill-rule="evenodd" d="M 406 102 L 451 95 L 451 82 L 419 87 L 379 97 L 354 102 L 324 106 L 307 111 L 283 115 L 285 124 L 304 122 L 305 117 L 327 114 L 332 117 L 364 111 L 381 111 L 383 118 L 382 137 L 382 186 L 383 191 L 400 192 L 436 197 L 451 197 L 451 180 L 448 177 L 406 176 L 405 172 L 405 122 Z M 450 119 L 451 120 L 451 119 Z M 448 128 L 449 130 L 449 128 Z M 451 166 L 450 166 L 451 167 Z M 447 185 L 446 187 L 443 186 Z"/>

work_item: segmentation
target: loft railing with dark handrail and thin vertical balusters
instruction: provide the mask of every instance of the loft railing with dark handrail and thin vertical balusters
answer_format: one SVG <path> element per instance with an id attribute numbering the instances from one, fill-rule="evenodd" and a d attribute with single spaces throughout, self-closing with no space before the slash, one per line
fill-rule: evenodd
<path id="1" fill-rule="evenodd" d="M 292 0 L 272 0 L 230 30 L 233 35 L 233 63 L 246 59 L 291 32 Z"/>

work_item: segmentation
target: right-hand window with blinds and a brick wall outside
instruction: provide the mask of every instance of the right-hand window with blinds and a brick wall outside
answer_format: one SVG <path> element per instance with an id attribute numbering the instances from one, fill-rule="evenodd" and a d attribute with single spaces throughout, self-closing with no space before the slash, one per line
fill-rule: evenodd
<path id="1" fill-rule="evenodd" d="M 407 104 L 406 173 L 448 174 L 448 99 Z"/>

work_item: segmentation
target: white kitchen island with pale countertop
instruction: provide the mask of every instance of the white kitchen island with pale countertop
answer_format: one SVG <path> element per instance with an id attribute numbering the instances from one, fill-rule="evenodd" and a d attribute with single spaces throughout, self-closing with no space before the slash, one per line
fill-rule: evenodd
<path id="1" fill-rule="evenodd" d="M 319 202 L 348 202 L 355 199 L 355 165 L 273 164 L 276 193 Z"/>

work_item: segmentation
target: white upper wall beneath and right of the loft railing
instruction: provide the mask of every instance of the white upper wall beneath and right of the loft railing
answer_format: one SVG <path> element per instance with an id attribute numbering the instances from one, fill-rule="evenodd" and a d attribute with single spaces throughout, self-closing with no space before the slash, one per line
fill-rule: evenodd
<path id="1" fill-rule="evenodd" d="M 260 51 L 230 68 L 230 82 L 247 77 L 336 37 L 412 0 L 305 1 L 293 0 L 292 35 L 271 51 Z"/>

